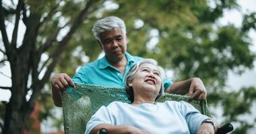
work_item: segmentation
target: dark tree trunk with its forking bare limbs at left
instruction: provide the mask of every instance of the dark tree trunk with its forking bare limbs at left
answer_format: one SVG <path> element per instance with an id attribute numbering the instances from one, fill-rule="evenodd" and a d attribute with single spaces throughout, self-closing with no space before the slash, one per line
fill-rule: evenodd
<path id="1" fill-rule="evenodd" d="M 20 1 L 22 2 L 22 1 Z M 44 84 L 49 80 L 53 68 L 57 64 L 57 61 L 61 57 L 61 53 L 65 50 L 69 40 L 75 33 L 75 30 L 82 24 L 84 18 L 88 15 L 88 9 L 91 7 L 93 0 L 86 2 L 86 7 L 82 9 L 71 23 L 71 28 L 67 35 L 58 42 L 57 49 L 53 52 L 53 62 L 47 66 L 47 70 L 42 78 L 38 80 L 38 63 L 40 60 L 41 50 L 36 50 L 36 38 L 38 37 L 38 29 L 42 23 L 40 23 L 41 14 L 37 12 L 30 12 L 29 17 L 26 17 L 26 33 L 24 34 L 24 40 L 20 48 L 16 47 L 16 40 L 9 44 L 6 30 L 4 27 L 3 11 L 0 9 L 0 29 L 3 34 L 3 42 L 5 44 L 5 50 L 7 50 L 7 59 L 11 65 L 11 98 L 6 105 L 5 110 L 5 123 L 3 127 L 3 133 L 23 133 L 24 122 L 28 119 L 30 113 L 34 108 L 36 98 L 40 96 L 40 90 Z M 0 5 L 1 5 L 0 1 Z M 22 5 L 20 5 L 22 6 Z M 26 8 L 25 8 L 26 9 Z M 19 12 L 17 13 L 17 16 Z M 26 15 L 26 13 L 24 13 Z M 16 17 L 16 20 L 20 19 L 20 16 Z M 18 23 L 15 23 L 18 28 Z M 2 26 L 2 27 L 1 27 Z M 15 29 L 17 32 L 17 29 Z M 14 34 L 16 35 L 16 34 Z M 48 48 L 52 45 L 42 46 L 42 48 Z M 28 76 L 32 76 L 32 96 L 30 100 L 26 101 L 26 94 L 28 92 Z"/>

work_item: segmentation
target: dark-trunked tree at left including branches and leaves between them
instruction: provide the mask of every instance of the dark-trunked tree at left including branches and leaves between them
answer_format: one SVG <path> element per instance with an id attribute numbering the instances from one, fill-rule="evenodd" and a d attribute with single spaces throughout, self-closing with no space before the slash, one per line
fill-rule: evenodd
<path id="1" fill-rule="evenodd" d="M 4 60 L 11 66 L 11 87 L 1 87 L 11 90 L 11 98 L 5 108 L 3 133 L 22 133 L 23 123 L 28 119 L 36 98 L 41 95 L 44 84 L 49 80 L 57 61 L 61 60 L 61 53 L 67 48 L 72 35 L 79 25 L 88 18 L 91 12 L 98 9 L 102 1 L 18 1 L 18 5 L 5 5 L 0 1 L 1 17 L 0 29 L 5 50 Z M 80 4 L 80 5 L 79 5 Z M 67 11 L 72 9 L 73 13 Z M 65 23 L 60 22 L 62 16 L 68 18 Z M 7 37 L 6 21 L 13 22 L 11 40 Z M 17 44 L 19 23 L 26 27 L 22 44 Z M 62 25 L 61 25 L 61 24 Z M 61 39 L 59 33 L 67 29 Z M 45 62 L 40 62 L 42 54 L 48 54 Z M 39 74 L 46 68 L 42 78 Z M 31 78 L 31 84 L 29 80 Z M 32 91 L 26 100 L 28 91 Z"/>

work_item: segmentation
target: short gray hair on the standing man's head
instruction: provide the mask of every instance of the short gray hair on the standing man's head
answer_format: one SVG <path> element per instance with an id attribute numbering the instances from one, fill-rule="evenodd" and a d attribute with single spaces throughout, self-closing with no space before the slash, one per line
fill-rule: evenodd
<path id="1" fill-rule="evenodd" d="M 104 17 L 103 19 L 98 20 L 94 27 L 92 28 L 92 33 L 100 41 L 100 33 L 104 31 L 110 31 L 115 27 L 120 27 L 123 32 L 123 36 L 126 36 L 126 27 L 123 19 L 115 16 Z"/>

